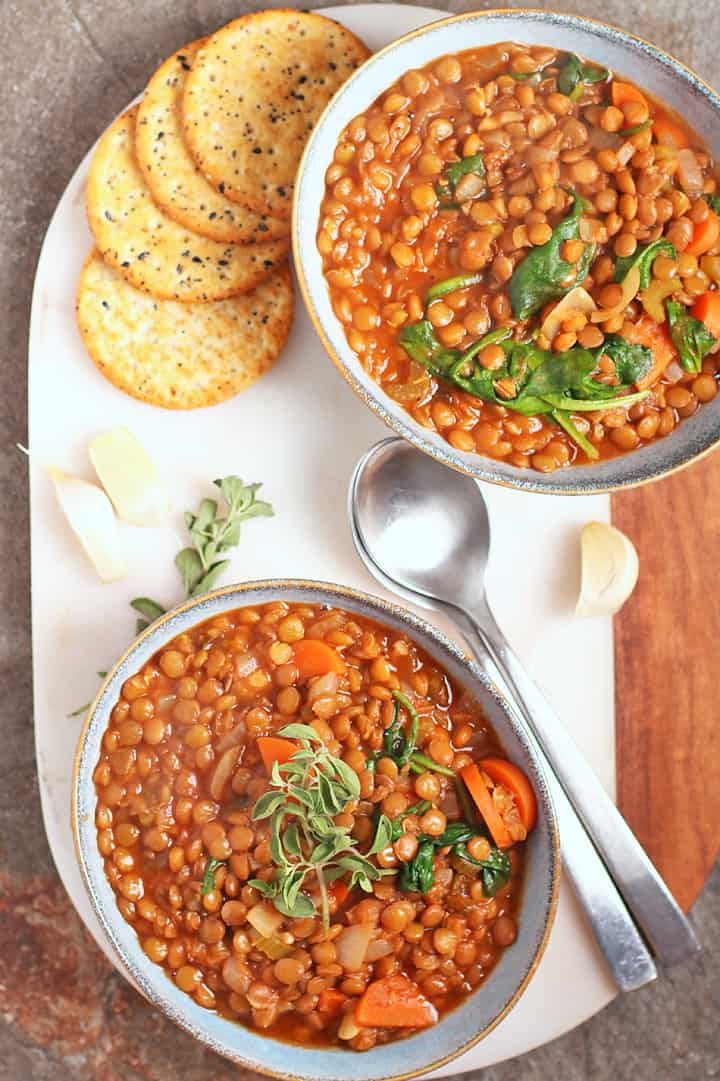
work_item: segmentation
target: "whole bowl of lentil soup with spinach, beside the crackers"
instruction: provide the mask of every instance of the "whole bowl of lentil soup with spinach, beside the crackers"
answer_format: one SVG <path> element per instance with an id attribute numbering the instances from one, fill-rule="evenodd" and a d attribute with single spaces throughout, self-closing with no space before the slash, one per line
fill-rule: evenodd
<path id="1" fill-rule="evenodd" d="M 449 466 L 573 494 L 662 477 L 720 439 L 719 151 L 718 95 L 625 31 L 430 24 L 307 146 L 310 317 L 365 403 Z"/>

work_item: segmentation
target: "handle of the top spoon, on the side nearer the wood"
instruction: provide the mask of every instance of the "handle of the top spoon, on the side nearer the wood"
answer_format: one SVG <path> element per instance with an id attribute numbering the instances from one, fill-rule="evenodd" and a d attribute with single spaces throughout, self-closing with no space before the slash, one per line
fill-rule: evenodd
<path id="1" fill-rule="evenodd" d="M 517 698 L 552 772 L 656 957 L 669 965 L 695 953 L 699 943 L 690 921 L 555 710 L 510 649 L 486 600 L 478 614 L 464 614 Z"/>

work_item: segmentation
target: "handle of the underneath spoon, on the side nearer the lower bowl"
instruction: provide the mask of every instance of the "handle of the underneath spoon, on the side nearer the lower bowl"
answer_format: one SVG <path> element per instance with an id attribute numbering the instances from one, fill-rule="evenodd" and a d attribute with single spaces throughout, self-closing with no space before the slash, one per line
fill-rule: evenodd
<path id="1" fill-rule="evenodd" d="M 468 626 L 464 629 L 478 665 L 507 695 L 505 680 L 475 625 L 468 620 Z M 516 715 L 520 712 L 512 694 L 509 695 L 508 706 Z M 522 722 L 521 712 L 519 720 Z M 573 884 L 615 985 L 621 991 L 638 990 L 656 978 L 657 969 L 592 841 L 585 832 L 532 732 L 529 733 L 529 738 L 546 770 L 558 817 L 563 869 Z"/>

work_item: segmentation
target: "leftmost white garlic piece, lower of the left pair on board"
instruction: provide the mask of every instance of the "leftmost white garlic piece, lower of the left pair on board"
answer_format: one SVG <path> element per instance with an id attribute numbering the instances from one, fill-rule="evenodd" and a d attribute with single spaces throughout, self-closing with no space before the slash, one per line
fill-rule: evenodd
<path id="1" fill-rule="evenodd" d="M 48 472 L 70 529 L 82 545 L 102 582 L 115 582 L 125 574 L 118 522 L 110 501 L 94 484 L 50 467 Z"/>

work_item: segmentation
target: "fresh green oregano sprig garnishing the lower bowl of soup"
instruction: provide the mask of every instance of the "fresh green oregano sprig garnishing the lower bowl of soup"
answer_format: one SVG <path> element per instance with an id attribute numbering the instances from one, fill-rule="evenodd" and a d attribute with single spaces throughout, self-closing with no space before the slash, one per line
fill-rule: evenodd
<path id="1" fill-rule="evenodd" d="M 350 889 L 372 892 L 372 883 L 388 871 L 372 863 L 390 843 L 392 827 L 381 815 L 373 843 L 360 853 L 347 826 L 337 826 L 335 815 L 360 798 L 358 775 L 336 758 L 308 724 L 286 724 L 278 735 L 296 739 L 297 750 L 282 765 L 275 762 L 270 790 L 255 803 L 255 822 L 270 819 L 270 854 L 275 879 L 251 879 L 264 897 L 289 917 L 314 916 L 317 905 L 307 892 L 308 879 L 315 879 L 320 894 L 322 922 L 330 925 L 328 886 L 349 876 Z"/>

